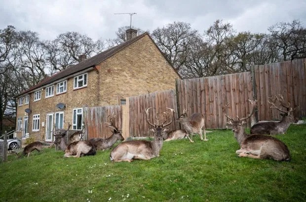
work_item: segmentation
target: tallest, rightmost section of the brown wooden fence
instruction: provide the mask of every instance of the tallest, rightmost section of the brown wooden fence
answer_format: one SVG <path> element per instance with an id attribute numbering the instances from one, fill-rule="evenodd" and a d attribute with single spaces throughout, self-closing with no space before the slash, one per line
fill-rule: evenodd
<path id="1" fill-rule="evenodd" d="M 277 94 L 296 109 L 296 117 L 306 117 L 306 59 L 254 66 L 254 76 L 259 121 L 280 120 L 279 111 L 268 103 L 268 97 Z"/>

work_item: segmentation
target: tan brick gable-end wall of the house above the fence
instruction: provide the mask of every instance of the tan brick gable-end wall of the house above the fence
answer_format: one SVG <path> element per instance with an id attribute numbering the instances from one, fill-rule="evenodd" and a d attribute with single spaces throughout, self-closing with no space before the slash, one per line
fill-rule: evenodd
<path id="1" fill-rule="evenodd" d="M 148 35 L 100 67 L 101 106 L 118 104 L 119 98 L 175 89 L 175 79 L 179 78 Z"/>

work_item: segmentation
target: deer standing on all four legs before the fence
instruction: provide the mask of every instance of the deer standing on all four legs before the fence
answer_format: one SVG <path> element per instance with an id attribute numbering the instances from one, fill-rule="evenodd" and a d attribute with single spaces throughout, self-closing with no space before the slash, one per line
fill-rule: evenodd
<path id="1" fill-rule="evenodd" d="M 200 139 L 207 141 L 206 139 L 206 131 L 205 131 L 205 122 L 204 117 L 201 113 L 193 113 L 191 117 L 189 118 L 186 113 L 186 109 L 184 109 L 181 116 L 178 118 L 177 122 L 180 122 L 183 124 L 184 129 L 187 131 L 187 137 L 190 140 L 190 142 L 193 142 L 189 135 L 192 134 L 199 134 Z M 202 128 L 204 131 L 204 139 L 202 135 Z"/>

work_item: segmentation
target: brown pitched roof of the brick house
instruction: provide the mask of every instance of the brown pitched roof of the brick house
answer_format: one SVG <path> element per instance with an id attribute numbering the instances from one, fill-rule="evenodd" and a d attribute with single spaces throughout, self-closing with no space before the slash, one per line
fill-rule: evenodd
<path id="1" fill-rule="evenodd" d="M 127 40 L 127 41 L 125 41 L 125 42 L 123 42 L 123 43 L 113 47 L 113 48 L 110 48 L 110 49 L 108 49 L 106 51 L 103 51 L 102 53 L 99 53 L 99 54 L 97 54 L 97 55 L 95 55 L 95 56 L 93 56 L 91 58 L 88 58 L 88 59 L 86 59 L 86 60 L 84 60 L 84 61 L 82 61 L 82 62 L 80 62 L 80 63 L 78 63 L 78 64 L 76 64 L 76 65 L 74 65 L 72 67 L 68 67 L 68 68 L 66 68 L 66 69 L 64 69 L 64 70 L 62 70 L 60 72 L 57 72 L 56 74 L 54 74 L 54 75 L 52 75 L 50 77 L 47 77 L 47 78 L 43 79 L 37 85 L 34 85 L 31 88 L 29 88 L 28 90 L 20 93 L 18 96 L 16 96 L 16 98 L 21 96 L 21 95 L 23 95 L 23 94 L 29 93 L 29 92 L 31 92 L 31 91 L 33 91 L 35 89 L 38 89 L 38 88 L 40 88 L 42 86 L 48 85 L 48 84 L 50 84 L 52 82 L 55 82 L 55 81 L 57 81 L 59 79 L 68 77 L 68 76 L 70 76 L 72 74 L 75 74 L 75 73 L 77 73 L 79 71 L 86 70 L 86 69 L 88 69 L 90 67 L 95 67 L 96 65 L 98 65 L 101 62 L 105 61 L 106 59 L 108 59 L 109 57 L 111 57 L 112 55 L 117 53 L 118 51 L 120 51 L 123 48 L 125 48 L 126 46 L 129 46 L 130 44 L 134 43 L 138 39 L 142 38 L 144 35 L 148 35 L 151 38 L 151 36 L 148 34 L 148 32 L 145 32 L 145 33 L 140 34 L 140 35 L 138 35 L 136 37 L 133 37 L 133 38 L 131 38 L 131 39 L 129 39 L 129 40 Z M 156 45 L 156 47 L 157 47 L 157 45 Z M 159 48 L 158 48 L 158 50 L 160 51 Z M 167 60 L 167 58 L 165 56 L 164 56 L 164 58 Z M 167 60 L 167 61 L 169 62 L 169 60 Z M 169 64 L 171 65 L 170 62 L 169 62 Z M 171 65 L 171 67 L 172 67 L 172 65 Z M 173 68 L 173 70 L 175 70 L 175 69 Z"/>

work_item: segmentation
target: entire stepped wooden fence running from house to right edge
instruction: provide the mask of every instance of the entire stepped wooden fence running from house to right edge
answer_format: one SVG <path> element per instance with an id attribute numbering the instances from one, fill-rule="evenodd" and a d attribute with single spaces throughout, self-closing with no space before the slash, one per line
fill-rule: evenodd
<path id="1" fill-rule="evenodd" d="M 255 79 L 254 79 L 255 78 Z M 205 117 L 205 128 L 224 129 L 227 118 L 226 105 L 231 117 L 246 117 L 250 113 L 247 100 L 258 100 L 258 119 L 279 120 L 277 110 L 271 110 L 268 97 L 282 94 L 296 108 L 298 118 L 306 117 L 306 60 L 294 60 L 254 66 L 252 72 L 241 72 L 205 78 L 176 81 L 176 90 L 155 92 L 126 99 L 126 105 L 85 108 L 85 126 L 88 138 L 108 137 L 112 133 L 105 127 L 107 115 L 117 115 L 116 123 L 122 128 L 123 136 L 147 136 L 150 128 L 146 122 L 145 110 L 150 110 L 150 120 L 155 114 L 164 112 L 166 107 L 173 108 L 175 119 L 186 109 L 191 115 L 200 112 Z M 248 120 L 250 127 L 255 117 Z M 170 130 L 179 129 L 173 122 Z"/>

